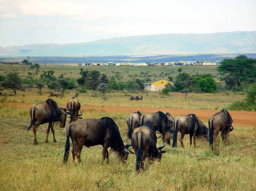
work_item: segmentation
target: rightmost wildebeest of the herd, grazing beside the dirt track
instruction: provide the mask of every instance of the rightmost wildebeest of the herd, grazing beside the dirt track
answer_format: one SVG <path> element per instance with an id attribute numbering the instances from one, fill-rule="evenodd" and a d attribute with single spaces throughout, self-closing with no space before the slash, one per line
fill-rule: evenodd
<path id="1" fill-rule="evenodd" d="M 224 143 L 228 143 L 228 136 L 230 131 L 234 128 L 232 126 L 233 119 L 226 109 L 221 110 L 217 114 L 212 115 L 212 117 L 208 121 L 209 125 L 209 139 L 210 146 L 212 146 L 216 142 L 216 138 L 221 131 L 221 138 Z"/>

